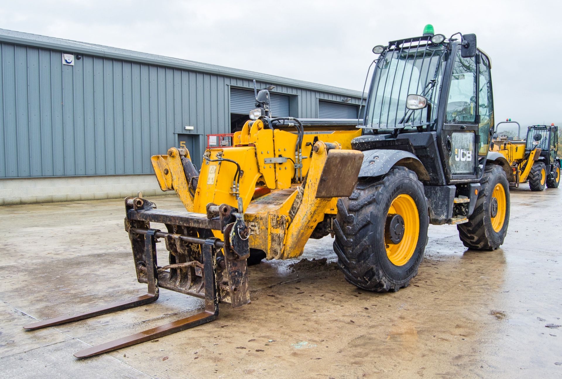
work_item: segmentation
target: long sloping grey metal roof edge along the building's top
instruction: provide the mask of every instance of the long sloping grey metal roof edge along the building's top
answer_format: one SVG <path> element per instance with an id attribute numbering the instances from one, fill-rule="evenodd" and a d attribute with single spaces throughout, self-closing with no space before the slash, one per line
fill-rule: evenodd
<path id="1" fill-rule="evenodd" d="M 288 85 L 312 89 L 314 91 L 337 93 L 345 96 L 361 97 L 360 91 L 333 87 L 304 80 L 283 78 L 282 76 L 255 73 L 253 71 L 233 69 L 231 67 L 211 65 L 201 62 L 188 61 L 179 58 L 166 57 L 133 50 L 102 46 L 94 43 L 79 42 L 69 39 L 47 37 L 39 34 L 23 33 L 21 31 L 0 29 L 0 42 L 13 43 L 38 48 L 56 49 L 67 53 L 80 53 L 125 61 L 133 61 L 150 65 L 174 67 L 177 69 L 199 71 L 203 73 L 232 76 L 234 78 L 256 79 L 268 84 Z"/>

